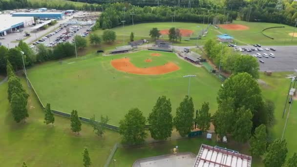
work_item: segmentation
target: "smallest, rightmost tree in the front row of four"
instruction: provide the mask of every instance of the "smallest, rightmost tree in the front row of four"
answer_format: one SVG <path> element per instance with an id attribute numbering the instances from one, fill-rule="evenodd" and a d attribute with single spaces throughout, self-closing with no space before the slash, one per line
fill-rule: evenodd
<path id="1" fill-rule="evenodd" d="M 201 108 L 198 110 L 196 118 L 197 126 L 202 130 L 206 131 L 211 126 L 211 114 L 209 113 L 210 107 L 208 102 L 204 102 Z"/>

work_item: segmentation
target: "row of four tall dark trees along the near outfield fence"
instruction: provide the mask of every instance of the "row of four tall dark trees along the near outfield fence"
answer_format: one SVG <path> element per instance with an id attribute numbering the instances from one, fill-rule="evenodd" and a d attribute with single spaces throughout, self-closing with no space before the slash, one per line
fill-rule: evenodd
<path id="1" fill-rule="evenodd" d="M 194 105 L 192 98 L 186 96 L 176 109 L 176 116 L 171 115 L 171 102 L 165 96 L 159 97 L 146 119 L 138 108 L 132 108 L 120 121 L 120 134 L 122 142 L 127 145 L 142 144 L 147 137 L 146 123 L 150 135 L 155 140 L 166 140 L 171 137 L 173 126 L 184 137 L 193 129 L 193 121 L 197 121 L 198 127 L 206 131 L 211 125 L 209 104 L 202 104 L 194 119 Z"/>

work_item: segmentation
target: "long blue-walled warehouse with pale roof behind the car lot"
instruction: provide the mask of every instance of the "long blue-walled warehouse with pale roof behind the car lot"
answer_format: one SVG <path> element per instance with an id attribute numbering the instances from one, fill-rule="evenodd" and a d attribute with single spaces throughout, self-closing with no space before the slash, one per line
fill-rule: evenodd
<path id="1" fill-rule="evenodd" d="M 13 13 L 12 16 L 62 19 L 64 17 L 64 12 L 17 12 Z"/>

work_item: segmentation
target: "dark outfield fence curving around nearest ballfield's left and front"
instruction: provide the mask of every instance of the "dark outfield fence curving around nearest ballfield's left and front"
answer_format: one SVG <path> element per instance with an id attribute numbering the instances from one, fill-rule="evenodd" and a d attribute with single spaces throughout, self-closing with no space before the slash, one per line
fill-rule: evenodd
<path id="1" fill-rule="evenodd" d="M 42 104 L 42 101 L 40 100 L 38 94 L 36 93 L 35 89 L 34 89 L 34 86 L 31 84 L 30 80 L 28 79 L 28 82 L 30 84 L 30 87 L 32 88 L 34 94 L 36 95 L 37 99 L 38 99 L 38 103 L 41 105 L 42 109 L 44 109 L 44 105 Z M 67 118 L 70 118 L 70 114 L 69 113 L 65 113 L 65 112 L 62 112 L 62 111 L 58 111 L 58 110 L 55 110 L 55 109 L 51 109 L 51 111 L 56 114 L 56 115 L 60 115 L 60 116 L 63 116 L 63 117 L 67 117 Z M 88 118 L 85 118 L 85 117 L 79 117 L 81 121 L 83 122 L 86 122 L 86 123 L 89 123 L 90 122 L 90 119 Z M 98 121 L 96 121 L 98 122 Z M 98 122 L 99 123 L 99 122 Z M 116 125 L 110 125 L 110 124 L 105 124 L 104 125 L 106 128 L 108 129 L 112 129 L 112 130 L 115 130 L 115 131 L 119 131 L 119 126 L 116 126 Z M 146 126 L 147 127 L 147 126 Z"/>

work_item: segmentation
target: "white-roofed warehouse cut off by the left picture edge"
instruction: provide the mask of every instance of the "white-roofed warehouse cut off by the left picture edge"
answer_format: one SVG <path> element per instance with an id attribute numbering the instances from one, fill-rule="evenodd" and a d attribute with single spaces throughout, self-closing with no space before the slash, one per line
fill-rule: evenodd
<path id="1" fill-rule="evenodd" d="M 17 29 L 34 23 L 33 17 L 12 17 L 11 15 L 0 15 L 0 36 L 12 33 Z"/>

